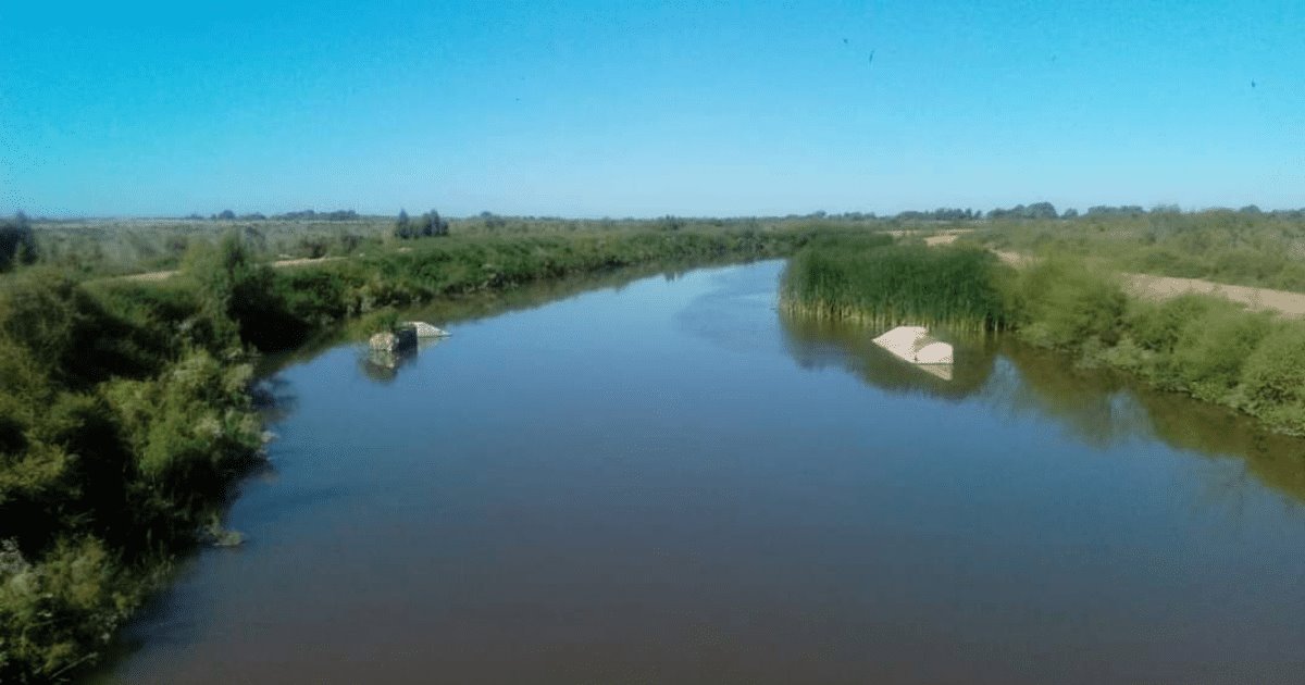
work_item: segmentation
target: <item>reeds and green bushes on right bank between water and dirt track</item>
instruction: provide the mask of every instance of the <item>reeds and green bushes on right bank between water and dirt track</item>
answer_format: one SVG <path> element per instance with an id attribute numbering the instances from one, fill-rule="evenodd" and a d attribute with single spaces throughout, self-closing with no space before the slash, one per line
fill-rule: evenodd
<path id="1" fill-rule="evenodd" d="M 1305 434 L 1305 321 L 1215 296 L 1129 297 L 1109 270 L 1081 254 L 1044 251 L 1015 270 L 966 248 L 826 237 L 790 262 L 782 299 L 803 316 L 880 327 L 1011 329 L 1079 364 L 1128 371 Z"/>

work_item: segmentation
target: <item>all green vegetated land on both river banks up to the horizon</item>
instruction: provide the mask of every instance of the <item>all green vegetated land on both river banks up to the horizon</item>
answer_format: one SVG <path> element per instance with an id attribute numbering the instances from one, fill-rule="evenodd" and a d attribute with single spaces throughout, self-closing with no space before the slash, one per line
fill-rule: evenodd
<path id="1" fill-rule="evenodd" d="M 1300 217 L 1052 215 L 1036 204 L 988 219 L 972 210 L 652 221 L 432 211 L 406 226 L 347 211 L 16 217 L 0 224 L 0 681 L 65 680 L 95 660 L 177 555 L 197 541 L 238 544 L 221 514 L 230 485 L 260 458 L 257 354 L 295 348 L 346 320 L 393 324 L 398 307 L 805 247 L 784 277 L 791 313 L 1014 329 L 1081 364 L 1305 433 L 1305 324 L 1212 297 L 1133 300 L 1101 267 L 1305 290 L 1292 258 L 1305 245 Z M 977 245 L 874 234 L 957 226 L 977 228 L 963 241 L 1044 258 L 1015 271 Z M 269 266 L 322 256 L 347 258 Z M 110 278 L 153 269 L 179 275 Z"/>

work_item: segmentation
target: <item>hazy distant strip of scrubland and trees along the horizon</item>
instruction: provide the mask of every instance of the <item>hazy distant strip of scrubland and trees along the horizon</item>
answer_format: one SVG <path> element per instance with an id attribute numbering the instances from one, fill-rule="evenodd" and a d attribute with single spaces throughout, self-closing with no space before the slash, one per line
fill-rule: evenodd
<path id="1" fill-rule="evenodd" d="M 0 230 L 0 269 L 16 260 L 37 261 L 76 270 L 86 275 L 114 275 L 136 271 L 175 269 L 181 256 L 194 243 L 213 243 L 224 230 L 235 226 L 254 256 L 264 260 L 299 257 L 342 257 L 384 249 L 393 240 L 438 235 L 543 235 L 628 231 L 739 230 L 822 227 L 830 230 L 934 230 L 967 227 L 979 231 L 1032 235 L 1037 240 L 1096 241 L 1105 236 L 1137 232 L 1139 226 L 1219 226 L 1241 223 L 1249 234 L 1274 232 L 1301 236 L 1305 210 L 1261 211 L 1258 207 L 1207 209 L 1181 211 L 1172 205 L 1150 210 L 1141 206 L 1094 206 L 1079 214 L 1067 209 L 1057 211 L 1049 202 L 1017 205 L 988 211 L 940 207 L 932 211 L 903 211 L 894 217 L 873 213 L 827 214 L 816 211 L 787 217 L 702 218 L 666 215 L 651 219 L 566 219 L 559 217 L 508 217 L 482 211 L 472 217 L 446 217 L 436 210 L 405 219 L 401 217 L 367 217 L 352 210 L 292 211 L 274 217 L 236 215 L 223 211 L 218 221 L 192 219 L 91 219 L 91 221 L 27 221 L 8 219 Z M 30 228 L 30 231 L 29 231 Z M 1167 228 L 1164 230 L 1167 231 Z M 1161 231 L 1163 232 L 1163 231 Z M 1246 234 L 1246 231 L 1242 231 Z M 1249 235 L 1248 234 L 1248 235 Z M 1158 239 L 1163 237 L 1158 235 Z M 1295 237 L 1293 237 L 1295 239 Z M 1018 240 L 1018 237 L 1013 237 Z M 1261 237 L 1255 240 L 1263 243 Z M 1158 240 L 1159 241 L 1159 240 Z M 1220 244 L 1215 240 L 1215 244 Z M 1223 244 L 1244 248 L 1237 241 Z M 18 254 L 22 252 L 22 254 Z M 1142 251 L 1144 252 L 1144 251 Z M 1150 251 L 1154 253 L 1155 251 Z M 1141 252 L 1138 252 L 1141 253 Z M 1284 251 L 1282 254 L 1295 254 Z M 1182 258 L 1171 261 L 1184 261 Z M 1265 257 L 1268 257 L 1265 253 Z M 1268 264 L 1268 262 L 1265 262 Z M 1186 269 L 1186 267 L 1184 267 Z M 1238 267 L 1253 271 L 1249 267 Z M 1186 269 L 1193 271 L 1193 269 Z M 1206 269 L 1202 273 L 1212 273 Z M 1186 274 L 1171 274 L 1186 275 Z M 1255 284 L 1270 284 L 1255 279 Z M 1305 283 L 1305 279 L 1302 279 Z M 1283 287 L 1283 286 L 1275 286 Z M 1293 286 L 1295 287 L 1295 286 Z"/>

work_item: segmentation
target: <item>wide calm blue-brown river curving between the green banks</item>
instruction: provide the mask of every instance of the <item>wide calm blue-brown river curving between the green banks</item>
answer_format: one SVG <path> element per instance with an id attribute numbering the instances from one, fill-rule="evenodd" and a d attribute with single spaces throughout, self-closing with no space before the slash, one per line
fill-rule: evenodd
<path id="1" fill-rule="evenodd" d="M 266 470 L 97 682 L 1305 681 L 1305 448 L 782 262 L 287 363 Z M 433 314 L 432 314 L 433 316 Z"/>

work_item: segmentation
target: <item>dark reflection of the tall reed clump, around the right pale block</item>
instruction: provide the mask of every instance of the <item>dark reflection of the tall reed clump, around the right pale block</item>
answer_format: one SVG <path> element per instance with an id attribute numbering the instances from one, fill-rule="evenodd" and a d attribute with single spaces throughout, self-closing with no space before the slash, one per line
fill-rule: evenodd
<path id="1" fill-rule="evenodd" d="M 860 324 L 820 321 L 780 312 L 784 346 L 805 369 L 842 368 L 867 384 L 898 393 L 920 393 L 942 399 L 963 399 L 984 388 L 993 369 L 996 346 L 990 337 L 954 337 L 938 331 L 955 350 L 951 380 L 945 380 L 902 361 L 872 338 L 873 331 Z"/>

